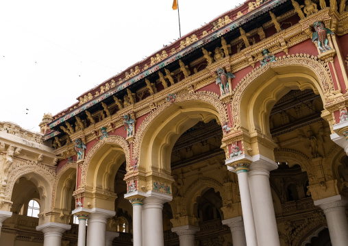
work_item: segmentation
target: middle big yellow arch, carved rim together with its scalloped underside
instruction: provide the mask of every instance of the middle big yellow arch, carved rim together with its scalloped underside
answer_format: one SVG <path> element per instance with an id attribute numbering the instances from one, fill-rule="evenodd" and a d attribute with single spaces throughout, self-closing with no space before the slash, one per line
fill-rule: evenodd
<path id="1" fill-rule="evenodd" d="M 197 93 L 189 93 L 189 94 L 177 96 L 175 99 L 175 103 L 171 103 L 171 102 L 162 103 L 160 106 L 158 106 L 156 110 L 153 110 L 153 112 L 151 112 L 145 118 L 144 121 L 142 121 L 141 125 L 138 127 L 138 130 L 134 136 L 134 147 L 133 147 L 132 153 L 133 153 L 133 158 L 137 157 L 138 160 L 140 160 L 140 164 L 138 164 L 139 170 L 142 168 L 142 163 L 147 161 L 147 158 L 142 158 L 142 157 L 140 158 L 140 154 L 142 154 L 140 153 L 140 151 L 142 147 L 145 146 L 144 141 L 149 140 L 145 137 L 147 133 L 153 131 L 153 129 L 156 127 L 160 130 L 163 130 L 164 127 L 168 127 L 169 125 L 168 122 L 163 123 L 161 120 L 161 117 L 163 117 L 164 114 L 169 114 L 169 112 L 172 112 L 172 111 L 173 111 L 173 114 L 175 115 L 176 114 L 181 115 L 181 112 L 190 114 L 189 110 L 192 110 L 192 111 L 195 110 L 197 116 L 201 116 L 200 120 L 203 120 L 205 122 L 208 122 L 211 119 L 216 119 L 218 122 L 228 121 L 227 105 L 220 101 L 219 95 L 216 95 L 216 93 L 205 92 L 205 91 L 200 91 Z M 198 111 L 201 111 L 202 113 L 197 113 Z M 170 116 L 173 116 L 173 114 L 171 114 Z M 192 116 L 192 119 L 193 119 L 194 117 L 193 113 L 192 115 L 189 115 L 188 117 L 190 116 Z M 182 117 L 182 121 L 184 120 L 186 119 L 183 119 Z M 171 122 L 173 123 L 174 121 L 171 121 Z M 151 126 L 153 126 L 154 124 L 157 124 L 156 127 L 151 128 Z M 179 127 L 177 127 L 177 125 L 179 124 L 175 125 L 176 128 L 174 130 L 169 129 L 169 132 L 167 132 L 169 134 L 167 134 L 164 137 L 164 140 L 166 141 L 166 143 L 167 142 L 169 143 L 171 141 L 170 139 L 172 138 L 171 134 L 174 134 L 174 135 L 180 134 L 179 132 L 180 130 L 179 130 Z M 180 125 L 180 127 L 182 127 L 182 125 Z M 152 135 L 152 136 L 156 137 L 158 135 Z M 160 147 L 158 149 L 160 149 Z M 160 149 L 160 151 L 163 151 L 163 149 Z"/>

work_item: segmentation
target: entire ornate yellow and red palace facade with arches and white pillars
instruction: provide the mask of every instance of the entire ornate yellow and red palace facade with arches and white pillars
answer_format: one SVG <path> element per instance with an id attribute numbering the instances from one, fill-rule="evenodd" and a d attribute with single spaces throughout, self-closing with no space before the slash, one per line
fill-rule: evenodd
<path id="1" fill-rule="evenodd" d="M 347 246 L 347 66 L 346 0 L 251 0 L 1 122 L 0 245 Z"/>

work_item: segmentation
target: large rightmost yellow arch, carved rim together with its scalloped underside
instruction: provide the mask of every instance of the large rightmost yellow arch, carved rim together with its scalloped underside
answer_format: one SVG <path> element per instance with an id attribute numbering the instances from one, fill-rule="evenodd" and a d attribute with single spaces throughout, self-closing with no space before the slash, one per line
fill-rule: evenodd
<path id="1" fill-rule="evenodd" d="M 303 71 L 304 70 L 304 71 Z M 301 83 L 290 83 L 289 88 L 312 88 L 314 93 L 318 93 L 321 95 L 321 99 L 323 100 L 323 104 L 330 97 L 334 96 L 334 84 L 332 82 L 332 76 L 330 75 L 330 69 L 327 64 L 314 56 L 310 56 L 307 54 L 297 54 L 297 55 L 288 55 L 279 57 L 276 59 L 276 62 L 270 62 L 266 64 L 266 66 L 259 66 L 254 69 L 251 73 L 245 76 L 240 82 L 237 84 L 236 88 L 233 91 L 233 101 L 232 101 L 232 119 L 236 126 L 236 129 L 240 129 L 240 123 L 248 122 L 245 117 L 255 117 L 252 112 L 248 112 L 249 110 L 243 110 L 241 107 L 243 106 L 243 100 L 250 101 L 251 99 L 245 98 L 246 92 L 249 91 L 251 97 L 257 97 L 256 88 L 252 88 L 257 86 L 255 82 L 258 80 L 259 82 L 264 81 L 264 79 L 269 79 L 269 77 L 275 77 L 274 80 L 282 79 L 284 82 L 288 83 L 291 77 L 303 78 L 304 82 Z M 271 82 L 274 85 L 276 81 Z M 284 85 L 279 85 L 280 88 L 277 88 L 277 91 L 273 91 L 271 97 L 264 98 L 264 103 L 275 103 L 277 96 L 282 96 L 281 90 L 284 90 Z M 259 90 L 259 88 L 257 88 Z M 261 90 L 261 89 L 260 89 Z M 243 106 L 247 107 L 247 106 Z M 264 105 L 260 106 L 260 108 L 264 107 Z M 247 112 L 245 112 L 247 111 Z M 263 108 L 260 110 L 259 114 L 264 114 Z M 243 113 L 243 116 L 241 115 Z M 243 119 L 242 119 L 243 118 Z"/>

